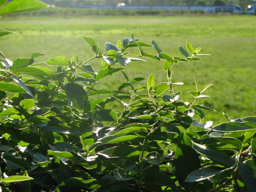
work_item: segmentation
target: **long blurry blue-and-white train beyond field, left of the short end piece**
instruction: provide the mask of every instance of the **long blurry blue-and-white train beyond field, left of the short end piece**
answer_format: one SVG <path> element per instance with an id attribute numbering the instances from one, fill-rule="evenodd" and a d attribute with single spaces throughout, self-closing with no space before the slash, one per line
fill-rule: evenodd
<path id="1" fill-rule="evenodd" d="M 87 9 L 154 9 L 154 10 L 204 10 L 206 13 L 229 12 L 242 14 L 244 11 L 240 5 L 102 5 L 102 4 L 72 4 L 71 8 Z"/>

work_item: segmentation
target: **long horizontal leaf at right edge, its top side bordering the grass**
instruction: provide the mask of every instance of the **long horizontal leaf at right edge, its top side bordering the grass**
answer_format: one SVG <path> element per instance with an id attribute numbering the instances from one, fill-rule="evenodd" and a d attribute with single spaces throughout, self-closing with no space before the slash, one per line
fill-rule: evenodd
<path id="1" fill-rule="evenodd" d="M 212 127 L 217 132 L 255 132 L 256 124 L 251 122 L 228 122 Z"/>

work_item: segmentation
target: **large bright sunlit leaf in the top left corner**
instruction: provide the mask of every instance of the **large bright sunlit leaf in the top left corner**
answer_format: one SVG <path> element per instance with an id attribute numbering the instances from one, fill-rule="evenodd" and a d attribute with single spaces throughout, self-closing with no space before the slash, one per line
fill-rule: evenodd
<path id="1" fill-rule="evenodd" d="M 0 16 L 7 13 L 34 12 L 46 6 L 47 4 L 36 0 L 15 0 L 5 5 L 3 11 L 0 13 Z"/>

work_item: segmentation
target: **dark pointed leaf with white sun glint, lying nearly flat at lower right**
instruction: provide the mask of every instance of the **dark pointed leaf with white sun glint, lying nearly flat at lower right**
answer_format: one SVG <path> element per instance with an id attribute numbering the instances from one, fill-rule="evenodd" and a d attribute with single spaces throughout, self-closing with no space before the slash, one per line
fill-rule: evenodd
<path id="1" fill-rule="evenodd" d="M 195 182 L 211 178 L 227 169 L 218 166 L 203 167 L 190 173 L 185 182 Z"/>

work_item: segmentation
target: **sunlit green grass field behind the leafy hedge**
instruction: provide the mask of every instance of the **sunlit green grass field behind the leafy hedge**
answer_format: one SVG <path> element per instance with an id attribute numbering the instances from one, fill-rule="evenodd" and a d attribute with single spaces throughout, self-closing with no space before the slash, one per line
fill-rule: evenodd
<path id="1" fill-rule="evenodd" d="M 129 38 L 133 31 L 140 41 L 150 43 L 154 38 L 160 48 L 170 56 L 180 56 L 178 46 L 186 47 L 186 39 L 194 48 L 201 47 L 200 61 L 175 64 L 172 68 L 173 82 L 183 82 L 176 91 L 182 91 L 180 98 L 189 102 L 193 98 L 187 93 L 196 90 L 194 78 L 199 86 L 213 84 L 204 93 L 199 104 L 213 106 L 217 112 L 207 112 L 207 121 L 214 124 L 224 122 L 222 112 L 231 118 L 256 116 L 256 17 L 251 15 L 222 16 L 136 16 L 136 17 L 21 17 L 1 18 L 0 30 L 14 31 L 0 41 L 0 50 L 10 60 L 30 58 L 34 52 L 44 52 L 36 59 L 43 62 L 49 58 L 64 56 L 68 60 L 78 55 L 79 60 L 93 57 L 91 46 L 81 36 L 91 36 L 100 49 L 105 42 L 116 44 Z M 146 49 L 147 52 L 155 52 Z M 137 52 L 137 49 L 134 49 Z M 148 63 L 133 62 L 125 67 L 130 79 L 148 77 L 152 72 L 157 83 L 166 82 L 162 62 L 148 60 Z M 91 62 L 96 71 L 101 60 Z M 123 66 L 116 66 L 123 67 Z M 99 84 L 99 87 L 113 90 L 125 81 L 121 73 L 114 74 Z M 140 86 L 146 86 L 146 81 Z"/>

